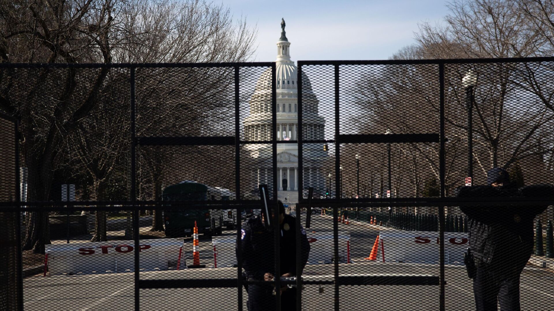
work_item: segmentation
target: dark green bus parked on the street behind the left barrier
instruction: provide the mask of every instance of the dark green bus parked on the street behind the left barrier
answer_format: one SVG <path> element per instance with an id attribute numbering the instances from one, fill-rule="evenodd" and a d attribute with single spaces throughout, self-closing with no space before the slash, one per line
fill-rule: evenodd
<path id="1" fill-rule="evenodd" d="M 167 186 L 162 192 L 162 201 L 211 201 L 221 199 L 221 190 L 191 180 L 184 180 L 181 183 Z M 164 210 L 163 219 L 167 237 L 191 236 L 194 221 L 198 226 L 198 233 L 204 236 L 220 235 L 223 231 L 222 210 Z"/>

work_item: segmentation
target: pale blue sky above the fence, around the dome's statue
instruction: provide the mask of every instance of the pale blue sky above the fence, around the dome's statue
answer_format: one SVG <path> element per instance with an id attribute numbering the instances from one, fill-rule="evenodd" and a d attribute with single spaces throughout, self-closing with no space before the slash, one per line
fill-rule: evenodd
<path id="1" fill-rule="evenodd" d="M 445 1 L 223 0 L 235 19 L 257 25 L 255 61 L 274 61 L 281 17 L 293 60 L 388 59 L 414 43 L 418 23 L 441 23 Z"/>

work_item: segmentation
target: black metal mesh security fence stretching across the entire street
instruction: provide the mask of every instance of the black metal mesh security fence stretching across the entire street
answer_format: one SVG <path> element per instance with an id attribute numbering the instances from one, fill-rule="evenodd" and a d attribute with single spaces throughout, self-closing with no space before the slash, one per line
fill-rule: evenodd
<path id="1" fill-rule="evenodd" d="M 525 260 L 507 271 L 521 308 L 552 309 L 552 229 L 529 233 L 530 210 L 552 219 L 551 188 L 529 188 L 554 184 L 552 64 L 300 61 L 297 129 L 275 63 L 0 64 L 4 309 L 242 310 L 259 294 L 278 310 L 294 291 L 305 310 L 473 310 L 463 253 L 479 210 L 506 229 L 501 266 Z M 283 169 L 296 144 L 297 185 Z M 493 167 L 511 193 L 464 196 Z M 277 226 L 291 180 L 296 225 Z M 235 252 L 260 184 L 273 231 Z M 275 254 L 302 266 L 300 224 L 301 277 L 244 277 L 282 274 Z M 19 279 L 19 265 L 40 271 Z M 496 303 L 497 282 L 479 282 Z"/>

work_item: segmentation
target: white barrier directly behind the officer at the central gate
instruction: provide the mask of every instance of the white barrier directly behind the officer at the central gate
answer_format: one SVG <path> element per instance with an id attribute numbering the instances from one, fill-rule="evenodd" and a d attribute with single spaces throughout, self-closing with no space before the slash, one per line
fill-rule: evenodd
<path id="1" fill-rule="evenodd" d="M 333 260 L 333 232 L 306 232 L 310 242 L 310 254 L 307 263 L 331 263 Z M 237 265 L 235 245 L 236 236 L 212 237 L 214 267 L 233 267 Z M 338 261 L 350 263 L 350 233 L 338 232 Z"/>

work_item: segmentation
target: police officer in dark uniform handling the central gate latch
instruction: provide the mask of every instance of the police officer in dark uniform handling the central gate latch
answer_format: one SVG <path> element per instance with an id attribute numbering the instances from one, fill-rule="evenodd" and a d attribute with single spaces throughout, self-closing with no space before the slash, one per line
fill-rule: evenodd
<path id="1" fill-rule="evenodd" d="M 281 277 L 296 276 L 296 219 L 285 214 L 285 206 L 279 204 L 279 247 Z M 273 218 L 272 218 L 273 219 Z M 273 281 L 275 274 L 273 229 L 267 229 L 260 217 L 247 220 L 242 232 L 243 267 L 245 279 Z M 306 266 L 310 252 L 304 228 L 300 227 L 301 270 Z M 283 286 L 281 291 L 281 310 L 296 310 L 296 288 Z M 250 284 L 247 287 L 248 310 L 272 310 L 275 307 L 273 287 Z"/>

